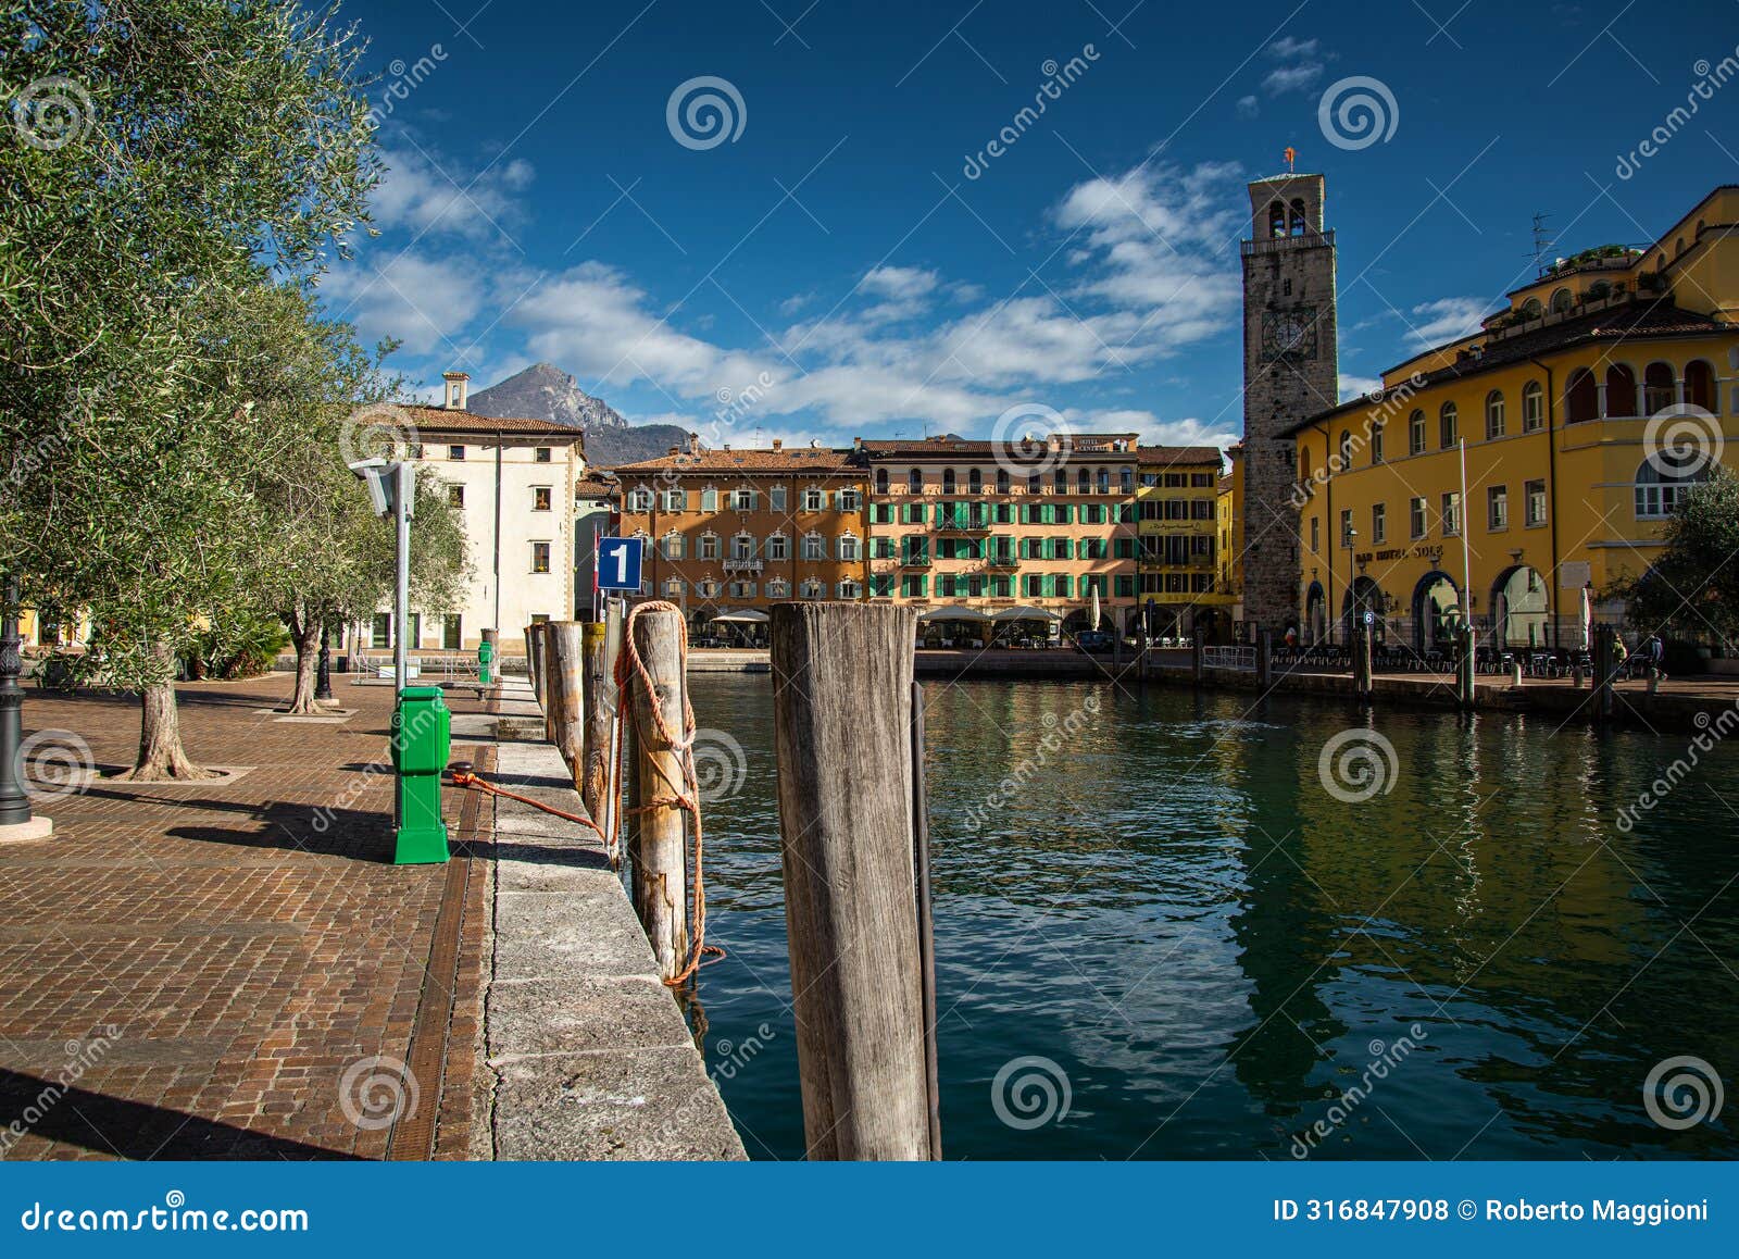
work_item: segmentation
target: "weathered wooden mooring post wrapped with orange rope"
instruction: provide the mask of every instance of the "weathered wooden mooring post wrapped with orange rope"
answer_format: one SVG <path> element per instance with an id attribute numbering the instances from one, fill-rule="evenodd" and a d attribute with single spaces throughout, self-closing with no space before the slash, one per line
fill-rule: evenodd
<path id="1" fill-rule="evenodd" d="M 675 798 L 687 791 L 683 737 L 682 612 L 640 612 L 633 621 L 633 647 L 650 680 L 631 676 L 633 706 L 633 823 L 628 854 L 633 861 L 631 894 L 640 925 L 652 941 L 659 974 L 675 979 L 689 958 L 689 875 L 683 856 L 683 812 Z M 663 725 L 661 725 L 663 723 Z"/>

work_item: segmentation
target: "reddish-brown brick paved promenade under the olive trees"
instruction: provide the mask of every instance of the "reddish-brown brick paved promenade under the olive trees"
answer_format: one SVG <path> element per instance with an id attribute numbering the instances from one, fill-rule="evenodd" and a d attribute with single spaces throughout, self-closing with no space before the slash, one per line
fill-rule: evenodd
<path id="1" fill-rule="evenodd" d="M 50 840 L 0 845 L 0 1156 L 471 1153 L 487 873 L 386 864 L 391 689 L 343 678 L 334 690 L 356 709 L 344 723 L 263 715 L 285 701 L 283 675 L 186 685 L 188 751 L 249 774 L 97 781 L 40 805 Z M 449 704 L 482 711 L 471 692 Z M 115 770 L 130 763 L 139 709 L 30 689 L 24 725 L 73 730 Z M 476 816 L 471 795 L 445 796 L 450 826 Z M 431 977 L 438 918 L 449 944 Z M 436 1035 L 414 1056 L 419 1009 Z M 391 1062 L 358 1068 L 362 1108 L 346 1113 L 341 1080 L 370 1056 L 424 1064 L 396 1125 L 369 1109 L 391 1108 Z M 372 1094 L 367 1075 L 381 1075 Z M 9 1129 L 19 1120 L 23 1136 Z"/>

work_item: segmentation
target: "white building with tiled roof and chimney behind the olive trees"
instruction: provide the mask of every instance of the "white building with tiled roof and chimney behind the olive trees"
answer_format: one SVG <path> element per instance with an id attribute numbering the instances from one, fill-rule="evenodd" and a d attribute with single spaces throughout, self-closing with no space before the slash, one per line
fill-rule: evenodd
<path id="1" fill-rule="evenodd" d="M 419 475 L 433 470 L 464 511 L 471 576 L 457 607 L 410 609 L 410 650 L 476 650 L 499 630 L 506 654 L 523 654 L 532 621 L 576 614 L 574 492 L 586 457 L 577 428 L 541 419 L 496 419 L 466 410 L 470 377 L 445 374 L 445 405 L 403 407 L 416 426 Z M 416 546 L 416 522 L 410 544 Z M 365 650 L 388 650 L 391 603 L 362 628 Z"/>

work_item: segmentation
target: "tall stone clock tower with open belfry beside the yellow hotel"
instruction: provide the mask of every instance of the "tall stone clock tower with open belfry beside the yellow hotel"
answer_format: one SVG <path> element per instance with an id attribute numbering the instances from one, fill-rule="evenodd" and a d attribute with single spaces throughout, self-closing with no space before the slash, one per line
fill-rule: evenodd
<path id="1" fill-rule="evenodd" d="M 1297 447 L 1280 433 L 1339 400 L 1334 233 L 1322 226 L 1322 176 L 1283 174 L 1250 184 L 1242 558 L 1252 638 L 1257 628 L 1278 636 L 1301 624 Z"/>

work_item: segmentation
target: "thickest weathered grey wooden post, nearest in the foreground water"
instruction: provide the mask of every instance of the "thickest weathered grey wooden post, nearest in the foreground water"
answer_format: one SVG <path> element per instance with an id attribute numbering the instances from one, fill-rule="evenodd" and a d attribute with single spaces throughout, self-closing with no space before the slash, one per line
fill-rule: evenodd
<path id="1" fill-rule="evenodd" d="M 784 913 L 809 1156 L 930 1156 L 913 892 L 916 612 L 772 609 Z"/>

